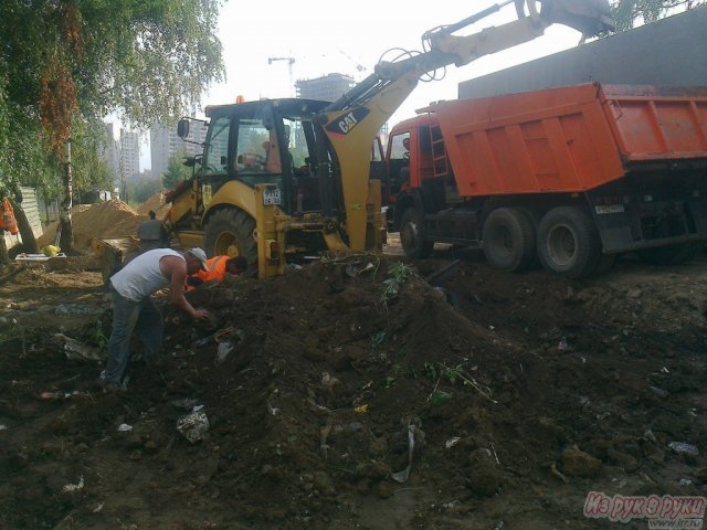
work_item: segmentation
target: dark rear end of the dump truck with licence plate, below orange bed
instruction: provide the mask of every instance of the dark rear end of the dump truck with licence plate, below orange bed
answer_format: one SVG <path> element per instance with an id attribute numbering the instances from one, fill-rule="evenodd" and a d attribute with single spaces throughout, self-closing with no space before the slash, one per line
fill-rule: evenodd
<path id="1" fill-rule="evenodd" d="M 587 197 L 606 254 L 707 242 L 707 189 L 697 180 L 629 182 Z"/>

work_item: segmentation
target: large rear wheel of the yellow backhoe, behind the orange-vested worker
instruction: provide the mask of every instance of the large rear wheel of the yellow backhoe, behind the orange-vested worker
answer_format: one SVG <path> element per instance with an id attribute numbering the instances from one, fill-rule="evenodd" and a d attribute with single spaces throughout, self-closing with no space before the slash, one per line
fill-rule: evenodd
<path id="1" fill-rule="evenodd" d="M 255 221 L 242 210 L 226 208 L 215 212 L 207 224 L 204 251 L 209 256 L 244 256 L 249 272 L 257 273 Z"/>

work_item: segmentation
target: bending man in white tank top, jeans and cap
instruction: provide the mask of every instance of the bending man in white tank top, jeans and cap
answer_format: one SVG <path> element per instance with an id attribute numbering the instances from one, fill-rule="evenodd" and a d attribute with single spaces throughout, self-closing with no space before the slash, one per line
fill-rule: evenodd
<path id="1" fill-rule="evenodd" d="M 184 298 L 188 274 L 205 268 L 207 254 L 191 248 L 183 255 L 171 248 L 156 248 L 140 254 L 110 277 L 113 329 L 108 340 L 108 362 L 101 374 L 104 390 L 123 389 L 123 375 L 130 356 L 130 337 L 137 332 L 143 342 L 145 360 L 157 361 L 162 346 L 162 315 L 151 295 L 170 286 L 170 303 L 194 320 L 209 317 L 205 309 L 194 309 Z"/>

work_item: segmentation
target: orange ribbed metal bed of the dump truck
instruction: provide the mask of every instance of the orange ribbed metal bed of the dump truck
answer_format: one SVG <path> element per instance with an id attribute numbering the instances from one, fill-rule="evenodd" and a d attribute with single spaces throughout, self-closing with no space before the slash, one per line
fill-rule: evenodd
<path id="1" fill-rule="evenodd" d="M 429 107 L 462 197 L 582 192 L 707 163 L 707 87 L 589 83 Z"/>

